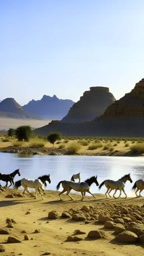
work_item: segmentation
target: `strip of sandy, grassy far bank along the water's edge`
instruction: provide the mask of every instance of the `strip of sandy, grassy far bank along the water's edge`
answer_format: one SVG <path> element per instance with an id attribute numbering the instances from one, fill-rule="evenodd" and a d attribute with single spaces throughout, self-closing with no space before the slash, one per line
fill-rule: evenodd
<path id="1" fill-rule="evenodd" d="M 104 152 L 82 152 L 77 154 L 67 154 L 65 149 L 56 147 L 17 147 L 8 146 L 0 147 L 2 153 L 22 154 L 22 155 L 77 155 L 77 156 L 143 156 L 141 153 L 132 154 L 131 151 L 109 151 Z"/>

